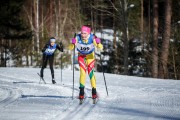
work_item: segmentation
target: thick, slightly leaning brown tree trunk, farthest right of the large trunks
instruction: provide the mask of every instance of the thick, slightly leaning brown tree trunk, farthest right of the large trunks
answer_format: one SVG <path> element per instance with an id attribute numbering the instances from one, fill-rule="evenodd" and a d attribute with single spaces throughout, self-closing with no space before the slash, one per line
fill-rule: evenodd
<path id="1" fill-rule="evenodd" d="M 168 55 L 169 55 L 169 40 L 170 40 L 170 33 L 171 33 L 171 0 L 166 0 L 165 6 L 165 22 L 164 22 L 164 32 L 163 32 L 163 43 L 161 49 L 161 65 L 159 67 L 159 78 L 168 78 Z"/>

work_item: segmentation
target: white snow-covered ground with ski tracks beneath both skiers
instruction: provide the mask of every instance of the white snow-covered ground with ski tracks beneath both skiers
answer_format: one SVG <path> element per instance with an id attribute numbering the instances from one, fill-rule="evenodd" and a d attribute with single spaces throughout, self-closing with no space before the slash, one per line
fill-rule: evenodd
<path id="1" fill-rule="evenodd" d="M 86 99 L 79 105 L 79 71 L 55 69 L 56 85 L 45 69 L 47 84 L 39 84 L 39 68 L 0 68 L 1 120 L 180 120 L 180 81 L 95 72 L 99 100 L 92 104 L 89 78 Z"/>

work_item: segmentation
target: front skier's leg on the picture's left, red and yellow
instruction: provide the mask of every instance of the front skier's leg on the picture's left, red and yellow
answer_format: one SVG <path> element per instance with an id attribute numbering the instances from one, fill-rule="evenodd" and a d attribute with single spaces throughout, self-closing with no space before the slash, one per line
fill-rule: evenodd
<path id="1" fill-rule="evenodd" d="M 78 56 L 78 62 L 79 62 L 79 66 L 80 66 L 80 79 L 79 79 L 79 83 L 80 83 L 80 93 L 79 93 L 79 98 L 84 98 L 84 87 L 85 87 L 85 80 L 86 80 L 86 59 L 85 56 L 80 55 Z"/>

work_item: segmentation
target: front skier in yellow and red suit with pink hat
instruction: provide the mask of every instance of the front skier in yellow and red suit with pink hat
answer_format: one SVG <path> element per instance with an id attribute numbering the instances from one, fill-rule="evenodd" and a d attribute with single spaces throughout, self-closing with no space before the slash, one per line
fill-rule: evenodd
<path id="1" fill-rule="evenodd" d="M 86 80 L 86 71 L 91 82 L 92 98 L 97 98 L 96 94 L 96 78 L 94 76 L 94 63 L 95 63 L 95 47 L 102 50 L 103 45 L 100 43 L 100 39 L 91 34 L 91 28 L 88 26 L 82 26 L 81 33 L 71 40 L 69 49 L 74 49 L 76 46 L 78 51 L 78 63 L 80 66 L 80 93 L 79 99 L 84 99 L 84 87 Z"/>

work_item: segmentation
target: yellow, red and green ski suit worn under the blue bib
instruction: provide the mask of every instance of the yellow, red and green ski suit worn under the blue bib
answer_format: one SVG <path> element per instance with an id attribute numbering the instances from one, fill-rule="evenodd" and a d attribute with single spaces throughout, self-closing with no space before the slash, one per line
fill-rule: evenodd
<path id="1" fill-rule="evenodd" d="M 82 40 L 83 43 L 88 43 L 88 39 Z M 93 37 L 92 44 L 94 47 L 102 50 L 103 45 L 101 43 L 97 44 L 96 40 Z M 76 36 L 76 44 L 78 43 L 78 38 Z M 76 46 L 75 44 L 75 46 Z M 74 44 L 69 45 L 69 49 L 72 50 L 74 49 Z M 80 52 L 78 53 L 78 63 L 80 66 L 80 87 L 85 87 L 85 82 L 86 82 L 86 72 L 88 72 L 90 82 L 91 82 L 91 87 L 96 88 L 96 78 L 94 75 L 94 63 L 95 63 L 95 53 L 94 50 L 92 53 L 89 54 L 81 54 Z"/>

